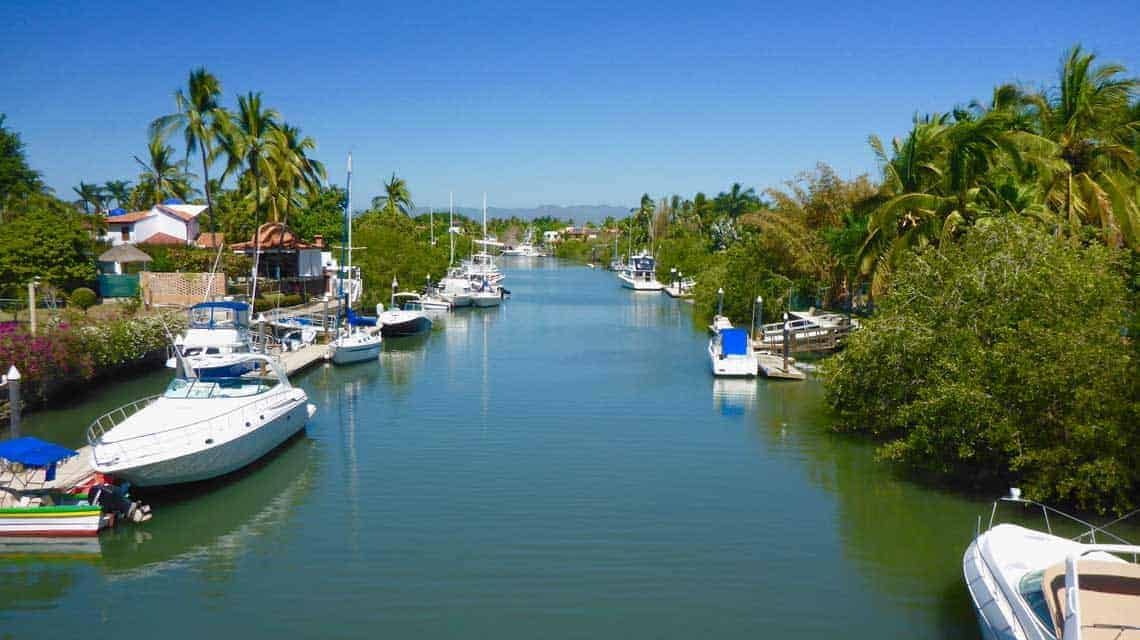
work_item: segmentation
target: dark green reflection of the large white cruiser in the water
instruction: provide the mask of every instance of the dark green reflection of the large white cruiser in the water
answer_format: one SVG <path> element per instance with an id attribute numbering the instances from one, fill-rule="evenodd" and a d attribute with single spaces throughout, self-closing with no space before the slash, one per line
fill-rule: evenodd
<path id="1" fill-rule="evenodd" d="M 233 570 L 254 546 L 290 530 L 287 521 L 309 495 L 319 449 L 301 431 L 237 473 L 148 494 L 155 513 L 145 526 L 120 527 L 99 542 L 112 578 L 138 578 L 205 564 Z"/>

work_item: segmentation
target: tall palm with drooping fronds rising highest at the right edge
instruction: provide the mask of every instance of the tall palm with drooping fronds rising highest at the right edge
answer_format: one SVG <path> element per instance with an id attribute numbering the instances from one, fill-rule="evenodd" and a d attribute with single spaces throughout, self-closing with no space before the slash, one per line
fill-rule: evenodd
<path id="1" fill-rule="evenodd" d="M 1126 187 L 1138 165 L 1129 144 L 1140 131 L 1140 114 L 1130 102 L 1140 83 L 1123 78 L 1123 65 L 1094 60 L 1077 44 L 1062 59 L 1060 87 L 1031 97 L 1042 135 L 1064 161 L 1049 180 L 1049 200 L 1070 232 L 1092 222 L 1107 243 L 1140 249 L 1140 205 Z"/>

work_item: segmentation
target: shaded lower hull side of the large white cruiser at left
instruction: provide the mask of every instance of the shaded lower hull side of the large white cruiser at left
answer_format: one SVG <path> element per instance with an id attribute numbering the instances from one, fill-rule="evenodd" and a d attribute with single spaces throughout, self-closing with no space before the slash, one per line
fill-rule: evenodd
<path id="1" fill-rule="evenodd" d="M 225 476 L 249 465 L 277 448 L 294 434 L 304 429 L 309 412 L 308 398 L 290 399 L 287 408 L 267 407 L 268 419 L 256 429 L 241 436 L 190 453 L 127 468 L 100 469 L 139 487 L 154 487 L 195 483 Z"/>

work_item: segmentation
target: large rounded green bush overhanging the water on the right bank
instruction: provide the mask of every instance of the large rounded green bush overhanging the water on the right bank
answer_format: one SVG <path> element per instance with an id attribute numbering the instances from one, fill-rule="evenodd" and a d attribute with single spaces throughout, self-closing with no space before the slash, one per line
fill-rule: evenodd
<path id="1" fill-rule="evenodd" d="M 828 367 L 840 428 L 937 478 L 1131 508 L 1140 432 L 1119 258 L 1008 221 L 912 256 Z"/>

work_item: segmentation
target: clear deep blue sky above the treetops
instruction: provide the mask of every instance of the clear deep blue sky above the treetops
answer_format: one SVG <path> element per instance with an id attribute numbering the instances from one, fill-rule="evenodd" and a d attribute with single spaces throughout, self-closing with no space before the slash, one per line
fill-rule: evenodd
<path id="1" fill-rule="evenodd" d="M 352 151 L 355 203 L 394 171 L 437 206 L 874 172 L 869 133 L 1001 81 L 1051 84 L 1074 42 L 1140 74 L 1135 1 L 196 5 L 6 5 L 0 112 L 59 195 L 133 179 L 147 123 L 199 65 L 228 105 L 259 90 L 314 136 L 331 180 Z"/>

